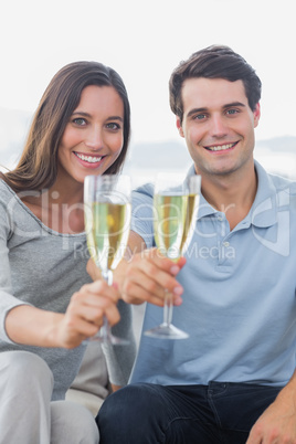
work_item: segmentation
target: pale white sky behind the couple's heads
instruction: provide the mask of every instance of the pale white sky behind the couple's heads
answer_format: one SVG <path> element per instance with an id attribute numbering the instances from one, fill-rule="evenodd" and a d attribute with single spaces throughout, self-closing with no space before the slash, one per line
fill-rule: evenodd
<path id="1" fill-rule="evenodd" d="M 0 107 L 33 112 L 55 72 L 96 60 L 123 76 L 133 141 L 179 139 L 168 78 L 180 60 L 228 44 L 263 81 L 257 138 L 296 136 L 293 1 L 14 0 L 1 7 Z"/>

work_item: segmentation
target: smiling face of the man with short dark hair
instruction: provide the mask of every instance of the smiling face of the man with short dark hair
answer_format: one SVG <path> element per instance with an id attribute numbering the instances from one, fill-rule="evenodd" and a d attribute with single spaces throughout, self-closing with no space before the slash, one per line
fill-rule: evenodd
<path id="1" fill-rule="evenodd" d="M 260 105 L 250 108 L 242 81 L 189 78 L 182 103 L 183 120 L 177 118 L 177 126 L 198 173 L 225 176 L 253 165 Z"/>

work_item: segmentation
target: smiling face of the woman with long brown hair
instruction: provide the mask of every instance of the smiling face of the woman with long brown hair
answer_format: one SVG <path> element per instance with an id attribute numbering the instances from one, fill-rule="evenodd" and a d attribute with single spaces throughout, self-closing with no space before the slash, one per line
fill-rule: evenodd
<path id="1" fill-rule="evenodd" d="M 103 175 L 124 145 L 124 103 L 113 86 L 86 86 L 59 147 L 57 179 Z"/>

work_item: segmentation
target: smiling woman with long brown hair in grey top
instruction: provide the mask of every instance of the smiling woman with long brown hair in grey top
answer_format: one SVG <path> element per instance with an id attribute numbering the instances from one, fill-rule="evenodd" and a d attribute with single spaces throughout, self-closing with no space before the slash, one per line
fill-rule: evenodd
<path id="1" fill-rule="evenodd" d="M 13 171 L 0 180 L 0 443 L 97 443 L 94 420 L 64 401 L 85 346 L 106 316 L 130 348 L 110 351 L 127 382 L 134 361 L 130 308 L 116 288 L 91 283 L 83 183 L 117 173 L 130 133 L 119 75 L 95 62 L 53 77 Z M 118 358 L 118 362 L 117 362 Z M 116 366 L 115 366 L 116 367 Z"/>

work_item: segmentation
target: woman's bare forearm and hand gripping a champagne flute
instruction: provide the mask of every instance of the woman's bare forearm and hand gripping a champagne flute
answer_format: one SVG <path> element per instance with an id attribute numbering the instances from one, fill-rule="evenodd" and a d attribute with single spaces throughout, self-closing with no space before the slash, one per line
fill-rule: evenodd
<path id="1" fill-rule="evenodd" d="M 65 314 L 19 305 L 8 313 L 6 331 L 17 343 L 74 348 L 98 331 L 104 316 L 110 325 L 119 321 L 118 296 L 114 287 L 97 281 L 72 296 Z"/>

